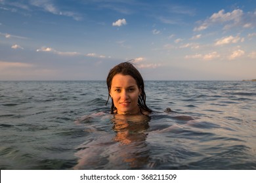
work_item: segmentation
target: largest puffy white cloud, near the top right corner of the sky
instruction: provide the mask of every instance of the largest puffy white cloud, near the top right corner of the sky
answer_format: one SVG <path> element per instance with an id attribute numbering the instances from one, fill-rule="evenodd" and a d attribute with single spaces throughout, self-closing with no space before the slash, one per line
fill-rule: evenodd
<path id="1" fill-rule="evenodd" d="M 232 12 L 225 12 L 224 10 L 219 10 L 219 12 L 213 13 L 210 18 L 204 21 L 198 22 L 197 27 L 194 31 L 203 31 L 210 27 L 211 25 L 223 25 L 223 29 L 231 29 L 232 27 L 244 27 L 250 28 L 255 25 L 255 15 L 250 13 L 245 14 L 243 10 L 236 9 Z"/>

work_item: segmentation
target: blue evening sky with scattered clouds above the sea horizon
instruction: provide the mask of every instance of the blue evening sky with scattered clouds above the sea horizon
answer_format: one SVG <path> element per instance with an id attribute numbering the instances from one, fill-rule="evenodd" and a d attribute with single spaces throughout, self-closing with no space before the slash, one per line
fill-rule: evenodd
<path id="1" fill-rule="evenodd" d="M 256 1 L 0 0 L 0 80 L 256 78 Z"/>

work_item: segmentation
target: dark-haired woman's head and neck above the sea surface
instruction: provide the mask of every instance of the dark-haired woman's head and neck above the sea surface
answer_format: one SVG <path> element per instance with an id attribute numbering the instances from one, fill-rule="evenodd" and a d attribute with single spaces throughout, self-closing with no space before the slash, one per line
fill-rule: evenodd
<path id="1" fill-rule="evenodd" d="M 108 100 L 112 99 L 111 114 L 146 115 L 152 112 L 146 106 L 143 78 L 133 64 L 123 62 L 110 69 L 106 83 Z"/>

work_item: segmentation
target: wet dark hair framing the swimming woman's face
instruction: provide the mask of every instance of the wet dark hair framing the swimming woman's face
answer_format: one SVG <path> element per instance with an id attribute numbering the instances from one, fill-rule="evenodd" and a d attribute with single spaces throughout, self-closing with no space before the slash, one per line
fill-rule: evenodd
<path id="1" fill-rule="evenodd" d="M 146 93 L 144 91 L 143 78 L 140 75 L 139 71 L 129 61 L 119 63 L 118 65 L 110 69 L 110 73 L 108 73 L 108 77 L 106 78 L 106 84 L 108 86 L 108 100 L 110 99 L 110 88 L 112 85 L 112 79 L 117 74 L 130 75 L 136 80 L 137 86 L 141 90 L 141 93 L 138 99 L 138 105 L 143 110 L 152 112 L 152 110 L 146 106 Z M 107 104 L 108 104 L 108 101 L 106 101 L 106 105 Z M 114 101 L 112 99 L 111 114 L 114 114 L 114 110 L 116 110 L 116 107 L 114 106 Z"/>

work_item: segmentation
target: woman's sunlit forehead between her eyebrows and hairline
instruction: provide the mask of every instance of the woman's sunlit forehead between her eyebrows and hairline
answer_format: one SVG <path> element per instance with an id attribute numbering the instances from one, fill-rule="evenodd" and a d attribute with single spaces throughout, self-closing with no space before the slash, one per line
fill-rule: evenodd
<path id="1" fill-rule="evenodd" d="M 130 75 L 117 74 L 112 78 L 112 87 L 137 86 L 135 78 Z"/>

